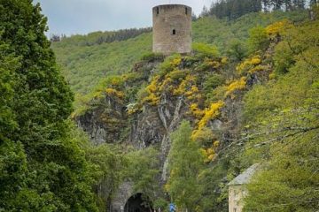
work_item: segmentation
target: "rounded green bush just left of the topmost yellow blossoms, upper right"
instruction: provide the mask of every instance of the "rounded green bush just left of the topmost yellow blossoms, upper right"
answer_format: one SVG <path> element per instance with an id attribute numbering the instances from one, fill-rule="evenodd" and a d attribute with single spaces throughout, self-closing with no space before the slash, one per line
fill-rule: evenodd
<path id="1" fill-rule="evenodd" d="M 250 52 L 265 50 L 268 47 L 268 34 L 264 27 L 253 27 L 247 41 Z"/>

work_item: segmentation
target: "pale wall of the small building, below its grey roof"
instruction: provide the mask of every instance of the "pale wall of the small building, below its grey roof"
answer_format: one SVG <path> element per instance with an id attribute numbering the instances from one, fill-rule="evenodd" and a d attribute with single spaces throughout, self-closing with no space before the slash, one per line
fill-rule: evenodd
<path id="1" fill-rule="evenodd" d="M 242 212 L 247 190 L 243 185 L 229 187 L 229 212 Z"/>

